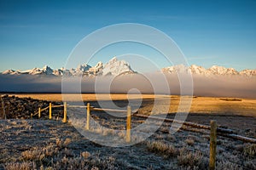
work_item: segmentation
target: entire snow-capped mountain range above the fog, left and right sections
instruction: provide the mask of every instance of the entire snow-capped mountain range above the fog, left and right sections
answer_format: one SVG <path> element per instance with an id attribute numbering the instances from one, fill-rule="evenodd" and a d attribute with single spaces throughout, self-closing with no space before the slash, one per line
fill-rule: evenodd
<path id="1" fill-rule="evenodd" d="M 181 73 L 192 73 L 192 75 L 202 75 L 205 77 L 211 77 L 214 75 L 221 76 L 231 76 L 231 75 L 241 75 L 245 77 L 256 76 L 256 70 L 243 70 L 236 71 L 233 68 L 225 68 L 223 66 L 212 65 L 212 67 L 206 69 L 198 65 L 173 65 L 166 68 L 162 68 L 161 71 L 165 74 L 176 74 Z M 3 71 L 3 75 L 50 75 L 50 76 L 83 76 L 83 77 L 96 77 L 96 76 L 118 76 L 126 74 L 136 74 L 137 71 L 131 69 L 131 65 L 125 60 L 119 60 L 117 58 L 110 59 L 108 63 L 103 64 L 101 61 L 95 66 L 90 66 L 88 64 L 79 65 L 76 69 L 66 69 L 62 67 L 61 69 L 53 70 L 48 65 L 45 65 L 43 69 L 33 68 L 27 71 L 15 71 L 7 70 Z"/>

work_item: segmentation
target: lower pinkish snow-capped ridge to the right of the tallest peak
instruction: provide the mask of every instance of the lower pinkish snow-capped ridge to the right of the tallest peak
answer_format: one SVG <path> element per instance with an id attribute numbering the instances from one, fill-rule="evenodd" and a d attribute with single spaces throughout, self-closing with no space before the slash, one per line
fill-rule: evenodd
<path id="1" fill-rule="evenodd" d="M 233 68 L 225 68 L 224 66 L 212 65 L 212 67 L 206 69 L 202 66 L 198 65 L 173 65 L 170 67 L 166 67 L 161 69 L 164 73 L 175 74 L 179 73 L 191 73 L 192 75 L 203 75 L 206 77 L 211 77 L 214 75 L 222 75 L 222 76 L 232 76 L 232 75 L 241 75 L 247 77 L 256 76 L 256 70 L 243 70 L 243 71 L 236 71 Z"/>

